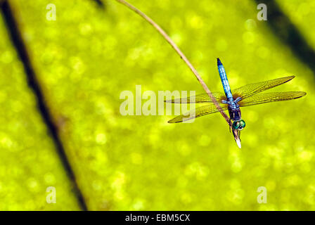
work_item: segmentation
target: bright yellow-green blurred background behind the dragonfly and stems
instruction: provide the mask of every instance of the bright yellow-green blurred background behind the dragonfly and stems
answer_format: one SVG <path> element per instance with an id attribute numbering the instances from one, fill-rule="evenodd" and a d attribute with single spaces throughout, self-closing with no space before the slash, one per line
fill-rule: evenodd
<path id="1" fill-rule="evenodd" d="M 210 90 L 296 75 L 273 91 L 295 101 L 243 108 L 238 149 L 219 113 L 192 124 L 173 116 L 122 116 L 120 93 L 203 93 L 146 21 L 113 0 L 14 0 L 41 89 L 88 210 L 315 210 L 314 71 L 257 20 L 255 1 L 130 0 L 165 29 Z M 47 4 L 56 21 L 46 20 Z M 315 2 L 278 1 L 315 48 Z M 80 210 L 0 20 L 0 210 Z M 46 188 L 56 187 L 56 204 Z M 257 203 L 257 188 L 267 203 Z"/>

